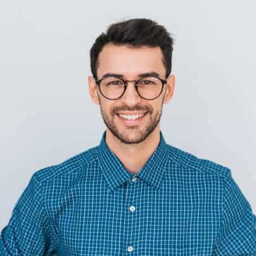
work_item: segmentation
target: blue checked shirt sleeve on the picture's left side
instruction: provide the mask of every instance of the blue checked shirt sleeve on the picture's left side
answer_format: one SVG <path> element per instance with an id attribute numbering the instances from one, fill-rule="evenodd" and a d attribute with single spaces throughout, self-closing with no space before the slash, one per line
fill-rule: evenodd
<path id="1" fill-rule="evenodd" d="M 0 255 L 53 255 L 54 248 L 40 184 L 34 175 L 1 232 Z"/>

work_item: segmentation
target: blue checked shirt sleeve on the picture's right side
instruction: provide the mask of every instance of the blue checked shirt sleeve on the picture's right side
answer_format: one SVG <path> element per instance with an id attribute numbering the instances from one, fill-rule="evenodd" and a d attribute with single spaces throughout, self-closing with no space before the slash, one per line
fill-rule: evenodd
<path id="1" fill-rule="evenodd" d="M 256 216 L 231 173 L 225 183 L 222 224 L 213 255 L 256 255 Z"/>

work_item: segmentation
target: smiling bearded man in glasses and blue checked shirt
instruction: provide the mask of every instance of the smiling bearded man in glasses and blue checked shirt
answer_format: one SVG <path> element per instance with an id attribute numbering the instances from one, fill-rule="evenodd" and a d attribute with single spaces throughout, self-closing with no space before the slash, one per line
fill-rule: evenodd
<path id="1" fill-rule="evenodd" d="M 256 217 L 230 169 L 166 144 L 173 39 L 149 19 L 112 24 L 90 51 L 99 146 L 37 171 L 1 255 L 256 255 Z"/>

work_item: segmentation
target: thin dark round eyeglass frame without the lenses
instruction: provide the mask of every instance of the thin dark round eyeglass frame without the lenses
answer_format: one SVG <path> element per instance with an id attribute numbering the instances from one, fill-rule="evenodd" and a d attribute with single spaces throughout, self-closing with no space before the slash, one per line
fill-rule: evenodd
<path id="1" fill-rule="evenodd" d="M 115 76 L 111 76 L 111 77 L 115 77 Z M 109 78 L 109 77 L 105 77 L 105 78 Z M 100 79 L 100 80 L 95 80 L 96 85 L 99 86 L 99 90 L 100 90 L 100 82 L 102 82 L 102 80 L 104 80 L 105 78 L 102 78 L 102 79 Z M 139 90 L 138 90 L 138 83 L 139 83 L 141 80 L 146 79 L 147 77 L 142 77 L 142 78 L 140 78 L 139 80 L 124 80 L 124 79 L 122 79 L 122 78 L 120 78 L 120 77 L 115 77 L 115 78 L 118 78 L 118 79 L 120 79 L 122 82 L 124 82 L 124 92 L 123 92 L 119 97 L 117 97 L 117 98 L 115 98 L 115 99 L 110 99 L 110 98 L 106 97 L 106 96 L 102 93 L 102 91 L 100 90 L 100 93 L 102 94 L 102 96 L 103 96 L 105 99 L 108 99 L 108 100 L 118 100 L 118 99 L 120 99 L 120 98 L 122 97 L 122 95 L 124 95 L 124 93 L 125 93 L 125 90 L 126 90 L 126 88 L 127 88 L 127 82 L 134 82 L 134 86 L 135 86 L 135 88 L 136 88 L 136 91 L 137 91 L 137 93 L 139 94 L 139 96 L 140 96 L 142 99 L 144 99 L 144 100 L 154 100 L 154 99 L 156 99 L 157 97 L 159 97 L 159 96 L 161 95 L 161 93 L 163 92 L 164 85 L 165 85 L 166 82 L 167 82 L 166 80 L 163 80 L 163 79 L 161 79 L 161 78 L 159 78 L 159 77 L 154 77 L 154 78 L 157 78 L 158 80 L 160 80 L 160 81 L 162 82 L 161 92 L 160 92 L 156 97 L 154 97 L 154 98 L 152 98 L 152 99 L 147 99 L 147 98 L 142 97 L 141 94 L 139 93 Z"/>

